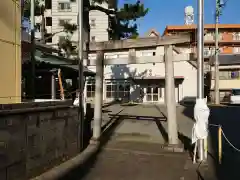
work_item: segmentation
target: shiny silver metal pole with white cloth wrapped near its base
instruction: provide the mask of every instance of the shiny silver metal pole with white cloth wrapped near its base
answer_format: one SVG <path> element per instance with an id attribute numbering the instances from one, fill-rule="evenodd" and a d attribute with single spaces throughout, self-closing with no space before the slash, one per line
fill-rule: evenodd
<path id="1" fill-rule="evenodd" d="M 204 0 L 198 0 L 198 34 L 197 34 L 197 84 L 198 84 L 198 99 L 204 99 L 204 72 L 203 72 L 203 48 L 204 48 Z M 198 140 L 198 156 L 199 160 L 204 160 L 204 139 Z"/>

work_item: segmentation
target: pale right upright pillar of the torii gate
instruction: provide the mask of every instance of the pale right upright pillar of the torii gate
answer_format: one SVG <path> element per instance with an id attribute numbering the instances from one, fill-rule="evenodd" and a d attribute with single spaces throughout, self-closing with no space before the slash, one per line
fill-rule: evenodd
<path id="1" fill-rule="evenodd" d="M 175 82 L 173 67 L 173 46 L 164 47 L 165 54 L 165 88 L 168 119 L 168 142 L 170 145 L 178 144 L 178 128 L 176 118 Z"/>

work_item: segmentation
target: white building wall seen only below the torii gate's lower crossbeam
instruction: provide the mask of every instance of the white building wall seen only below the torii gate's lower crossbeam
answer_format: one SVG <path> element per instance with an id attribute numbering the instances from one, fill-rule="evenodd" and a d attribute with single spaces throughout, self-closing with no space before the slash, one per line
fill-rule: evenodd
<path id="1" fill-rule="evenodd" d="M 96 71 L 95 66 L 88 67 L 92 71 Z M 182 83 L 179 85 L 179 92 L 176 92 L 176 98 L 181 101 L 186 97 L 196 97 L 197 95 L 197 72 L 196 68 L 186 61 L 174 63 L 174 76 L 184 77 Z M 132 77 L 133 79 L 140 79 L 138 82 L 150 83 L 149 80 L 143 79 L 155 79 L 155 81 L 162 83 L 162 93 L 164 94 L 164 77 L 165 77 L 165 65 L 164 63 L 148 63 L 148 64 L 129 64 L 129 65 L 107 65 L 104 67 L 104 87 L 103 87 L 103 98 L 104 101 L 109 101 L 106 97 L 106 83 L 113 79 L 123 80 Z M 136 90 L 136 82 L 131 83 L 131 89 Z M 141 84 L 141 83 L 140 83 Z M 146 84 L 145 84 L 146 85 Z M 175 91 L 177 91 L 175 89 Z M 86 88 L 85 88 L 85 93 Z M 130 99 L 135 100 L 140 97 L 139 89 L 134 93 L 130 94 Z M 163 95 L 164 96 L 164 95 Z M 178 96 L 178 97 L 177 97 Z M 93 100 L 93 99 L 89 99 Z M 164 97 L 159 100 L 164 102 Z"/>

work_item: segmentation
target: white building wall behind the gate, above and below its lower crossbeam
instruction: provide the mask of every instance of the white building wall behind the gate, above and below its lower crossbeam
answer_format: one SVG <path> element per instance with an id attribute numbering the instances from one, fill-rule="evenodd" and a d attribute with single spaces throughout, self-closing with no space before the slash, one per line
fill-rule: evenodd
<path id="1" fill-rule="evenodd" d="M 191 53 L 192 50 L 188 47 L 178 48 L 181 53 Z M 164 55 L 164 46 L 157 48 L 146 48 L 136 50 L 136 57 L 147 57 L 147 56 L 160 56 Z M 176 52 L 173 52 L 176 54 Z M 118 59 L 127 58 L 129 51 L 119 51 L 105 53 L 105 59 Z M 96 54 L 89 54 L 89 59 L 96 59 Z M 96 72 L 95 66 L 88 66 L 91 71 Z M 186 97 L 196 97 L 197 95 L 197 71 L 191 63 L 187 61 L 174 62 L 174 76 L 183 77 L 183 80 L 175 79 L 175 96 L 176 101 L 179 102 Z M 129 80 L 129 78 L 131 80 Z M 130 84 L 130 100 L 137 100 L 141 91 L 144 91 L 145 97 L 143 102 L 146 102 L 147 88 L 149 86 L 158 86 L 159 97 L 158 102 L 163 103 L 165 100 L 165 64 L 162 63 L 146 63 L 146 64 L 128 64 L 128 65 L 106 65 L 104 66 L 104 85 L 103 85 L 103 99 L 104 101 L 112 101 L 111 98 L 107 98 L 106 86 L 111 81 L 119 82 L 127 81 Z M 111 83 L 110 83 L 111 84 Z M 86 85 L 88 86 L 88 85 Z M 87 93 L 88 87 L 85 88 Z M 88 98 L 89 101 L 94 101 L 94 96 Z"/>

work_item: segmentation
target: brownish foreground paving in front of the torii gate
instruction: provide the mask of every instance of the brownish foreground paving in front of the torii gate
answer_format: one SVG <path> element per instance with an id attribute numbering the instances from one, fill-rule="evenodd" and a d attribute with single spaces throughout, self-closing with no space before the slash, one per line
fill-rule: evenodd
<path id="1" fill-rule="evenodd" d="M 158 144 L 118 141 L 63 179 L 198 180 L 198 173 L 187 153 L 164 152 Z"/>

